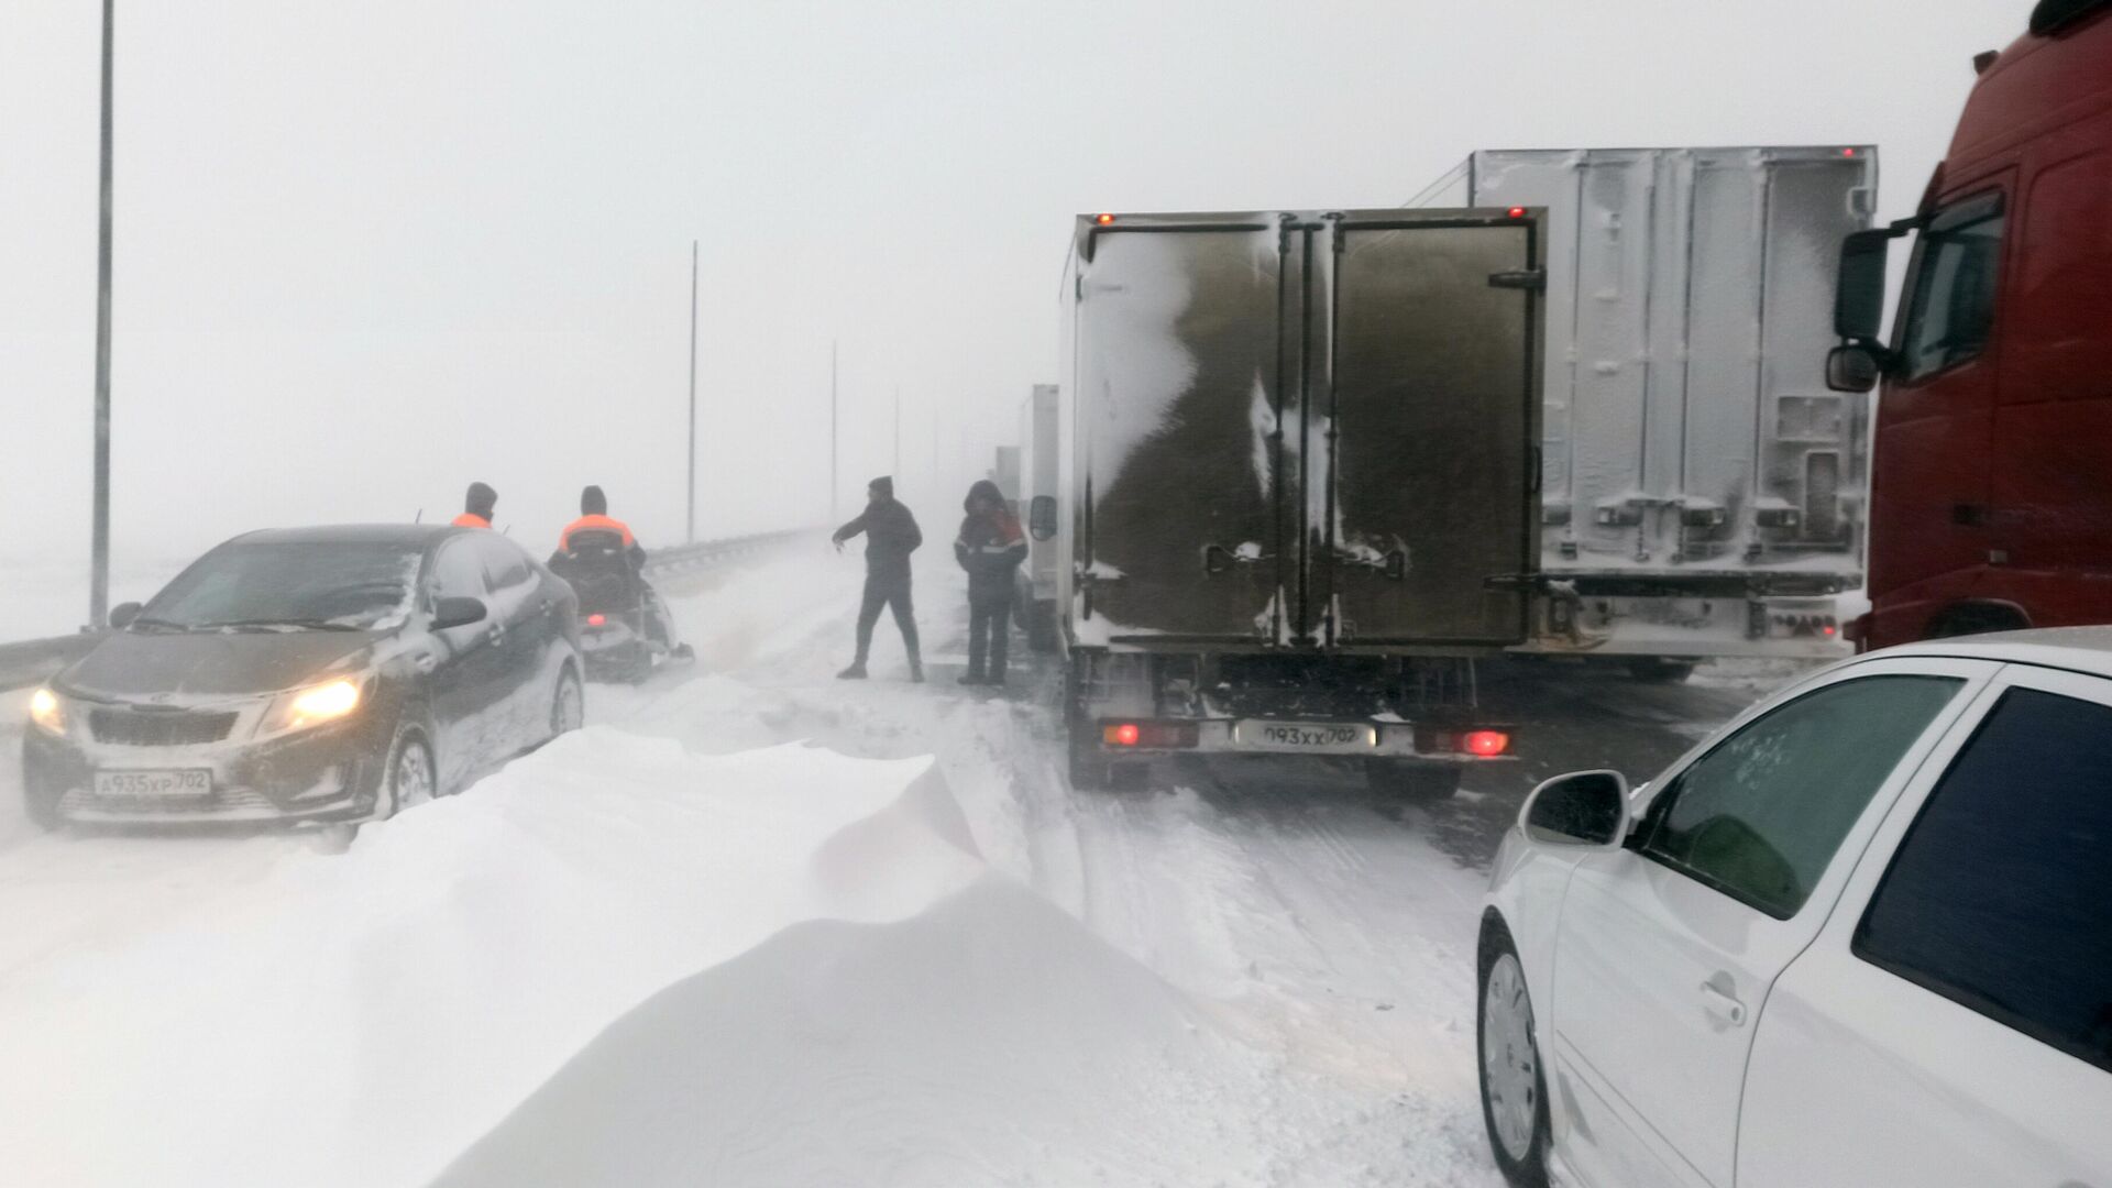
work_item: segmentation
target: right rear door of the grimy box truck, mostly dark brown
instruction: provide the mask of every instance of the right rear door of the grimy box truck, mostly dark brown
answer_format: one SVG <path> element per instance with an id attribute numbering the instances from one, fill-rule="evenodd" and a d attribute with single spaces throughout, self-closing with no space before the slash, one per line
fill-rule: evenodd
<path id="1" fill-rule="evenodd" d="M 1540 550 L 1538 224 L 1385 211 L 1331 226 L 1331 353 L 1307 425 L 1328 446 L 1328 499 L 1307 518 L 1314 634 L 1519 643 Z"/>

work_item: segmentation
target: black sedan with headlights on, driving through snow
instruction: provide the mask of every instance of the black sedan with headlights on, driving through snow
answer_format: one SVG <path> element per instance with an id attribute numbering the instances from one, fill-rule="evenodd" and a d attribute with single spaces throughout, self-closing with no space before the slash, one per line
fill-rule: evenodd
<path id="1" fill-rule="evenodd" d="M 579 727 L 572 588 L 482 528 L 249 533 L 38 689 L 32 820 L 378 820 Z"/>

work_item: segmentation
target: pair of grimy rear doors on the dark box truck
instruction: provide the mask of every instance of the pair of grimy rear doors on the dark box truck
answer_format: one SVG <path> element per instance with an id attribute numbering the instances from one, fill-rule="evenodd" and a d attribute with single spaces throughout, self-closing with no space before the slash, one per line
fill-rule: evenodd
<path id="1" fill-rule="evenodd" d="M 1523 207 L 1081 226 L 1090 634 L 1523 641 L 1538 228 Z"/>

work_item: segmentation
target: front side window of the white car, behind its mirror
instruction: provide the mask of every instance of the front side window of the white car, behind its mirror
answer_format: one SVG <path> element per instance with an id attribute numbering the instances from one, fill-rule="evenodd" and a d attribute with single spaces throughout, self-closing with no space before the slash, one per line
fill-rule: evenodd
<path id="1" fill-rule="evenodd" d="M 1951 676 L 1865 676 L 1776 708 L 1673 778 L 1652 803 L 1637 850 L 1789 920 L 1962 685 Z"/>

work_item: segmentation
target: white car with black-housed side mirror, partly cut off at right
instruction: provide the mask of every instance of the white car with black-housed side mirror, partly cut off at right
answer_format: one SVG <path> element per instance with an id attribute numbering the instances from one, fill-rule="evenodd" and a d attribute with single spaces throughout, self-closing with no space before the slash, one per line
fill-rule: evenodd
<path id="1" fill-rule="evenodd" d="M 1628 791 L 1481 926 L 1512 1184 L 2112 1188 L 2112 628 L 1880 651 Z"/>

